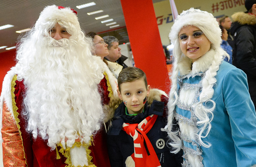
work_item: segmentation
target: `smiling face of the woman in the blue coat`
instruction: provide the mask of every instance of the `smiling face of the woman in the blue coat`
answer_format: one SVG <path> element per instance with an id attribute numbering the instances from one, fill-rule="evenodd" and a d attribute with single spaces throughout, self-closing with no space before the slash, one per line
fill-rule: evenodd
<path id="1" fill-rule="evenodd" d="M 210 41 L 204 33 L 194 25 L 182 27 L 179 32 L 181 51 L 194 63 L 210 50 Z"/>

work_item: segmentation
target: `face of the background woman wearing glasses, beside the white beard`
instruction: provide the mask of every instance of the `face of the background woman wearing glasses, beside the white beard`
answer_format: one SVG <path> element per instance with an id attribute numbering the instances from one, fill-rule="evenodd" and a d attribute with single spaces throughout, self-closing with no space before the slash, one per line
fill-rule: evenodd
<path id="1" fill-rule="evenodd" d="M 96 48 L 95 54 L 101 57 L 102 60 L 105 56 L 109 55 L 108 44 L 106 44 L 100 36 L 95 35 L 93 43 L 95 44 Z"/>

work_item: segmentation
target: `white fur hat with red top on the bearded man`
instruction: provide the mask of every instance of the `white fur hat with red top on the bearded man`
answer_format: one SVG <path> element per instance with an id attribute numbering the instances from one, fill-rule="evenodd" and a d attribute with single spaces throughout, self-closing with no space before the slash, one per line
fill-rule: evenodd
<path id="1" fill-rule="evenodd" d="M 56 5 L 47 6 L 42 10 L 35 23 L 35 30 L 42 30 L 45 35 L 57 22 L 67 28 L 69 34 L 73 35 L 81 31 L 77 12 L 69 7 L 63 8 Z M 74 32 L 74 29 L 76 30 Z"/>

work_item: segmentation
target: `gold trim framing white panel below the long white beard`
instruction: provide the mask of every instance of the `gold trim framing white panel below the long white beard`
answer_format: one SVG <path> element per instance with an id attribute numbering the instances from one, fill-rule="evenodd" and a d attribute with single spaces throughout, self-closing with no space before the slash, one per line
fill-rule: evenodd
<path id="1" fill-rule="evenodd" d="M 90 155 L 91 153 L 91 150 L 89 149 L 90 146 L 92 146 L 92 142 L 93 142 L 93 135 L 91 136 L 91 141 L 86 144 L 86 143 L 83 143 L 81 144 L 81 142 L 75 142 L 74 145 L 72 146 L 72 148 L 75 148 L 75 147 L 78 147 L 80 148 L 81 146 L 83 146 L 84 148 L 86 148 L 86 153 L 87 153 L 87 159 L 88 159 L 88 166 L 87 165 L 78 165 L 78 166 L 74 166 L 72 165 L 72 162 L 71 162 L 71 158 L 70 158 L 70 147 L 67 147 L 66 146 L 66 149 L 63 148 L 62 144 L 59 143 L 57 146 L 61 147 L 61 149 L 59 150 L 59 152 L 65 156 L 67 158 L 67 160 L 65 161 L 66 165 L 65 167 L 96 167 L 93 162 L 91 162 L 91 160 L 93 159 L 93 157 Z"/>

